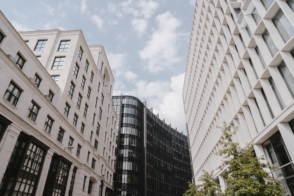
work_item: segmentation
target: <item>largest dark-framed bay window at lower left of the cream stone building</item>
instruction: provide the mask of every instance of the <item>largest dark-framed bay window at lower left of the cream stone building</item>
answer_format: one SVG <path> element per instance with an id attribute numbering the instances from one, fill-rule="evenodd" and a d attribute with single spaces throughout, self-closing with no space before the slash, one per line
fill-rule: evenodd
<path id="1" fill-rule="evenodd" d="M 2 178 L 0 195 L 36 195 L 47 150 L 39 140 L 21 132 Z"/>

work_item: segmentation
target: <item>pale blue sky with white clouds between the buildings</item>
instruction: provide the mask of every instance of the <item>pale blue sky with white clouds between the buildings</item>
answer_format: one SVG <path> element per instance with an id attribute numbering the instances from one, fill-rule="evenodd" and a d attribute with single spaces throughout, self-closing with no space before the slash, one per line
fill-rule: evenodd
<path id="1" fill-rule="evenodd" d="M 113 96 L 146 100 L 187 135 L 183 83 L 195 0 L 10 0 L 1 11 L 17 31 L 81 29 L 102 45 L 115 79 Z"/>

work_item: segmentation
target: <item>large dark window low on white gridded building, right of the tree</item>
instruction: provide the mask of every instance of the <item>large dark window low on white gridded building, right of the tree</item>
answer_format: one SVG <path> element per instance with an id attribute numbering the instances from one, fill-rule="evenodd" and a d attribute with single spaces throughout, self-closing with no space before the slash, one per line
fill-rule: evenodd
<path id="1" fill-rule="evenodd" d="M 285 195 L 294 195 L 293 182 L 294 182 L 294 169 L 293 163 L 288 155 L 287 149 L 283 142 L 280 133 L 274 134 L 264 144 L 266 155 L 270 163 L 275 167 L 281 167 L 279 170 L 273 171 L 273 177 L 278 182 L 283 182 L 283 189 L 288 193 Z"/>

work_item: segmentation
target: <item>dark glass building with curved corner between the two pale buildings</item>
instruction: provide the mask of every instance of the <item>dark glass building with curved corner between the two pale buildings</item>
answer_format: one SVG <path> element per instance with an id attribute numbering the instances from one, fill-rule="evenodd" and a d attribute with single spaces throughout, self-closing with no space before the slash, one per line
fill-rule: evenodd
<path id="1" fill-rule="evenodd" d="M 191 180 L 187 136 L 133 96 L 113 96 L 118 116 L 113 195 L 182 195 Z"/>

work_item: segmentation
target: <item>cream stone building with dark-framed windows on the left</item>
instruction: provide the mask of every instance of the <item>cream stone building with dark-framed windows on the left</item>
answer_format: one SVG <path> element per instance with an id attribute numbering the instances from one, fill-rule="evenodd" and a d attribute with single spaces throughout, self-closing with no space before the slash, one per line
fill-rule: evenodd
<path id="1" fill-rule="evenodd" d="M 0 195 L 100 195 L 101 180 L 111 192 L 117 116 L 103 46 L 81 30 L 18 33 L 0 12 L 0 78 Z"/>

